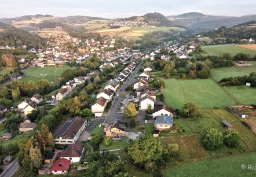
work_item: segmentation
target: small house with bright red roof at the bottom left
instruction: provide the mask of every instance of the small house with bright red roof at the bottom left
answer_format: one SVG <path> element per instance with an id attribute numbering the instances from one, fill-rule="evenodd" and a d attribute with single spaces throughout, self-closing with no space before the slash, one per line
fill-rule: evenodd
<path id="1" fill-rule="evenodd" d="M 68 173 L 70 165 L 71 160 L 67 160 L 66 158 L 60 158 L 54 162 L 53 166 L 50 168 L 50 171 L 53 175 L 64 175 Z"/>

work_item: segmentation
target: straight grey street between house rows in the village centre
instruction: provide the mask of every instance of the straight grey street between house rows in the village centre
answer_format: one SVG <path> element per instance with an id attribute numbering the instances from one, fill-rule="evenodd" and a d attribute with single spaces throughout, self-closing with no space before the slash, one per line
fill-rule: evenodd
<path id="1" fill-rule="evenodd" d="M 126 79 L 126 81 L 122 84 L 120 89 L 116 92 L 116 96 L 114 98 L 114 101 L 112 102 L 111 109 L 108 112 L 107 120 L 105 121 L 105 123 L 109 123 L 111 121 L 115 121 L 116 119 L 118 119 L 118 120 L 122 120 L 123 119 L 123 114 L 119 115 L 119 114 L 116 113 L 118 111 L 118 107 L 119 107 L 120 101 L 122 99 L 122 92 L 125 91 L 125 89 L 128 86 L 129 82 L 131 82 L 136 77 L 137 72 L 138 72 L 138 70 L 141 67 L 141 64 L 142 63 L 140 63 L 138 65 L 138 67 L 133 71 L 133 73 L 131 73 L 129 78 Z M 117 94 L 119 94 L 119 97 L 117 97 Z M 118 99 L 116 100 L 116 98 L 118 98 Z"/>

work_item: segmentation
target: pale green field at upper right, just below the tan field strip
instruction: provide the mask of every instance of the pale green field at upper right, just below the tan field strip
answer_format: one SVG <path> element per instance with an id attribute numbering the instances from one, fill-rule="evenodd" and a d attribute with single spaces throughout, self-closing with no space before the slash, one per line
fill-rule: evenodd
<path id="1" fill-rule="evenodd" d="M 211 56 L 222 56 L 224 53 L 230 53 L 231 56 L 235 56 L 237 53 L 248 53 L 251 57 L 256 55 L 256 51 L 236 45 L 202 46 L 202 49 Z"/>

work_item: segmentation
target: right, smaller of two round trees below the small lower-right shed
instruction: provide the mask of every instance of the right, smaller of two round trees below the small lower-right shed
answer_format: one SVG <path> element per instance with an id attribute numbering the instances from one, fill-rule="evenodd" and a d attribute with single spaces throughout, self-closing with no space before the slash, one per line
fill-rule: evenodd
<path id="1" fill-rule="evenodd" d="M 224 143 L 229 146 L 236 148 L 240 145 L 241 136 L 238 131 L 235 130 L 227 130 L 224 135 Z"/>

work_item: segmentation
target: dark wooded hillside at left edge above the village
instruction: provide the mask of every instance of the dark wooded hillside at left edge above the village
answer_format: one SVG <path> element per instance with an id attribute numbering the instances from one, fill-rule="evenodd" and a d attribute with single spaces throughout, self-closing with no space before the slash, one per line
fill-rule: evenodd
<path id="1" fill-rule="evenodd" d="M 45 45 L 45 39 L 32 35 L 22 29 L 14 28 L 11 25 L 0 22 L 0 29 L 4 29 L 4 31 L 0 32 L 0 45 L 16 47 L 25 45 L 28 48 L 35 49 L 42 48 Z"/>

